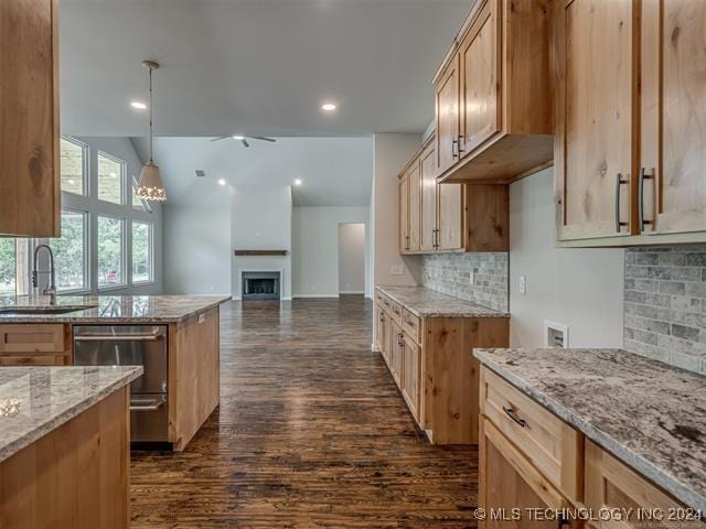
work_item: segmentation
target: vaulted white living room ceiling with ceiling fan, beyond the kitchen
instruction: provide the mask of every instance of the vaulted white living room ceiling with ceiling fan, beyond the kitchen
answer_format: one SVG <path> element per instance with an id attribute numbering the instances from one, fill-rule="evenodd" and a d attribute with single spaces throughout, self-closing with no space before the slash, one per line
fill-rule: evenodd
<path id="1" fill-rule="evenodd" d="M 147 144 L 133 139 L 145 159 Z M 234 186 L 278 187 L 296 179 L 295 206 L 367 206 L 373 181 L 372 138 L 278 138 L 277 143 L 207 138 L 157 138 L 154 161 L 160 165 L 167 205 L 206 203 L 224 193 L 218 179 Z M 206 172 L 203 179 L 194 171 Z"/>

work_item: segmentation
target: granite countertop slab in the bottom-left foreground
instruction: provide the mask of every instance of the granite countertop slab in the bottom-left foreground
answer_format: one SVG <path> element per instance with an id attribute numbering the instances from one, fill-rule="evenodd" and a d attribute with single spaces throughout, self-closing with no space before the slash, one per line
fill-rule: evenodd
<path id="1" fill-rule="evenodd" d="M 140 375 L 141 366 L 0 368 L 0 462 Z"/>

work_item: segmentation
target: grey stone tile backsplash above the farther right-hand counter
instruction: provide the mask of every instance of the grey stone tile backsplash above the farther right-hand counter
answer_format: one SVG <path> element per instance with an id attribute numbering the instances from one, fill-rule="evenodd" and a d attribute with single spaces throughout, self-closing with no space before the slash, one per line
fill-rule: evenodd
<path id="1" fill-rule="evenodd" d="M 424 285 L 442 294 L 509 311 L 507 253 L 424 256 Z M 471 272 L 474 284 L 471 284 Z"/>

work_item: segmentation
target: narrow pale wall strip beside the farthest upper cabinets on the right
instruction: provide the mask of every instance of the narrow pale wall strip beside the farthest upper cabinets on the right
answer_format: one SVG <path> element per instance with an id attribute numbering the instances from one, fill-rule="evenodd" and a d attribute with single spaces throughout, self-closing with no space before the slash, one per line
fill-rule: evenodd
<path id="1" fill-rule="evenodd" d="M 399 256 L 399 188 L 397 175 L 421 145 L 419 134 L 375 134 L 372 193 L 372 226 L 375 284 L 414 285 L 421 282 L 421 258 Z M 392 267 L 403 266 L 402 274 Z"/>

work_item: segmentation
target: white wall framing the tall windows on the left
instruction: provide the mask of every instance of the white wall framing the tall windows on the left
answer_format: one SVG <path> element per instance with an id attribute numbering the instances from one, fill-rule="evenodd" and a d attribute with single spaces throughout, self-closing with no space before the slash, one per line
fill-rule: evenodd
<path id="1" fill-rule="evenodd" d="M 145 220 L 152 224 L 152 244 L 153 244 L 153 274 L 154 280 L 147 284 L 126 285 L 124 288 L 110 289 L 110 294 L 159 294 L 163 290 L 163 266 L 162 266 L 162 206 L 158 203 L 150 203 L 152 213 L 141 212 L 132 209 L 131 196 L 132 196 L 132 176 L 139 177 L 142 170 L 142 162 L 140 161 L 137 151 L 132 147 L 132 143 L 128 138 L 87 138 L 76 137 L 77 140 L 88 145 L 89 150 L 89 166 L 88 179 L 90 196 L 77 196 L 72 193 L 62 193 L 62 207 L 87 210 L 89 213 L 97 213 L 101 215 L 110 215 L 114 217 L 126 219 L 126 249 L 131 248 L 131 229 L 130 223 L 135 220 Z M 126 194 L 126 204 L 117 205 L 107 202 L 98 201 L 96 196 L 97 188 L 97 156 L 96 153 L 105 152 L 114 158 L 117 158 L 126 164 L 126 187 L 124 193 Z M 97 277 L 98 277 L 98 245 L 97 245 L 97 220 L 95 215 L 89 216 L 88 233 L 90 236 L 90 291 L 98 293 L 97 290 Z M 130 251 L 127 251 L 125 256 L 126 274 L 129 278 L 131 272 L 132 256 Z M 108 292 L 107 290 L 104 292 Z"/>

